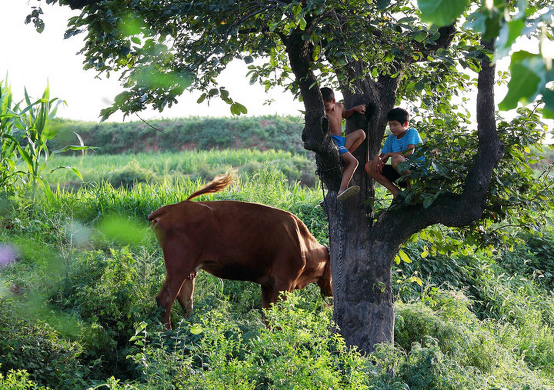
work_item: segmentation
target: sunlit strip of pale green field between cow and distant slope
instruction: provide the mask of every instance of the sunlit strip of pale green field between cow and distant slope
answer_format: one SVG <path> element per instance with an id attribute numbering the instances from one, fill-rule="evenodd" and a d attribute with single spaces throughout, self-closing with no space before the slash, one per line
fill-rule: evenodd
<path id="1" fill-rule="evenodd" d="M 65 188 L 80 187 L 88 182 L 107 182 L 116 188 L 129 188 L 135 183 L 206 181 L 229 169 L 253 176 L 268 167 L 281 172 L 291 184 L 300 182 L 302 186 L 314 187 L 319 182 L 313 158 L 279 150 L 224 149 L 133 155 L 98 155 L 86 151 L 84 156 L 56 156 L 50 163 L 50 170 L 58 166 L 74 167 L 83 176 L 80 180 L 73 171 L 63 169 L 48 174 L 52 186 L 60 184 Z"/>

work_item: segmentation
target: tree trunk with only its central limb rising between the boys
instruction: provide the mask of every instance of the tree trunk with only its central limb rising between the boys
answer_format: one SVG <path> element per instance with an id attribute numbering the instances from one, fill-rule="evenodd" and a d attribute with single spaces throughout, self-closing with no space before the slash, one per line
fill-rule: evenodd
<path id="1" fill-rule="evenodd" d="M 381 150 L 381 141 L 387 125 L 387 112 L 394 107 L 399 76 L 383 76 L 378 82 L 360 78 L 363 68 L 357 63 L 349 77 L 360 80 L 357 94 L 343 89 L 345 107 L 365 104 L 374 111 L 370 118 L 353 115 L 347 121 L 346 133 L 357 129 L 366 131 L 364 142 L 353 155 L 360 165 L 352 184 L 362 189 L 363 196 L 342 203 L 328 194 L 326 204 L 333 204 L 327 215 L 330 224 L 330 255 L 333 288 L 335 291 L 333 319 L 348 345 L 371 352 L 377 343 L 394 342 L 394 296 L 392 293 L 391 264 L 398 253 L 399 243 L 387 240 L 373 227 L 375 182 L 367 175 L 365 164 Z"/>

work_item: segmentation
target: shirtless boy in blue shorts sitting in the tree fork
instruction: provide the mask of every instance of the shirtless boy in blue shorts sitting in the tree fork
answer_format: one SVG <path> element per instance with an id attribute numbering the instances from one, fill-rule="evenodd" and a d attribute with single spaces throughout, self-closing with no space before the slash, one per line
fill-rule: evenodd
<path id="1" fill-rule="evenodd" d="M 358 160 L 352 155 L 352 152 L 366 139 L 366 133 L 362 129 L 358 129 L 347 134 L 346 137 L 342 137 L 342 118 L 351 117 L 354 112 L 364 114 L 366 112 L 366 106 L 361 104 L 350 110 L 345 110 L 345 106 L 342 103 L 335 101 L 335 94 L 332 89 L 327 87 L 321 88 L 321 95 L 323 96 L 325 113 L 329 118 L 331 137 L 336 143 L 338 153 L 340 153 L 342 162 L 344 163 L 341 187 L 338 189 L 337 194 L 337 200 L 342 202 L 360 192 L 359 186 L 348 187 L 348 184 L 350 184 L 352 176 L 358 167 Z"/>

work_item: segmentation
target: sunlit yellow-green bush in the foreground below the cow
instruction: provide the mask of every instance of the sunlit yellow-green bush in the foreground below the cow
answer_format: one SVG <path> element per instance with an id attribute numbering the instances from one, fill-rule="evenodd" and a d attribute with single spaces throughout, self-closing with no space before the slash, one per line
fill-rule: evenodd
<path id="1" fill-rule="evenodd" d="M 368 389 L 366 358 L 331 335 L 330 312 L 305 310 L 299 294 L 266 311 L 269 327 L 229 320 L 211 310 L 171 332 L 142 323 L 133 360 L 149 386 L 188 389 Z M 310 305 L 307 305 L 310 306 Z M 372 367 L 384 378 L 384 370 Z M 171 383 L 171 384 L 169 384 Z M 379 387 L 401 388 L 401 387 Z"/>

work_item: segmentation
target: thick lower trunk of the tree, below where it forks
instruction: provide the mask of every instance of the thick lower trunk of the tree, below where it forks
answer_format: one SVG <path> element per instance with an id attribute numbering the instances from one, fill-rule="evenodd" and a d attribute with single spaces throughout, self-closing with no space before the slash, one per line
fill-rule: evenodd
<path id="1" fill-rule="evenodd" d="M 348 345 L 364 352 L 394 341 L 391 259 L 398 252 L 377 238 L 363 201 L 325 199 L 330 224 L 333 319 Z"/>

